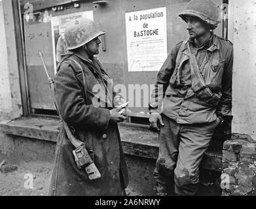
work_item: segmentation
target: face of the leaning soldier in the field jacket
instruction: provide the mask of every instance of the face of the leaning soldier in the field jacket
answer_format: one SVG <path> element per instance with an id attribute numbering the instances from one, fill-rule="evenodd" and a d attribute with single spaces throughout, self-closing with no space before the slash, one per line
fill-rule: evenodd
<path id="1" fill-rule="evenodd" d="M 205 24 L 199 18 L 193 16 L 187 16 L 187 30 L 189 31 L 189 36 L 191 39 L 198 39 L 206 35 L 210 31 L 210 26 Z"/>

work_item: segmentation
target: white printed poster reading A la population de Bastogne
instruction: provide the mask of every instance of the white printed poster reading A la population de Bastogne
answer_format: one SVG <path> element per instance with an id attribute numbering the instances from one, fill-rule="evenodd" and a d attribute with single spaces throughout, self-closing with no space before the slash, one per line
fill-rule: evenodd
<path id="1" fill-rule="evenodd" d="M 128 72 L 159 71 L 167 54 L 166 7 L 126 13 Z"/>

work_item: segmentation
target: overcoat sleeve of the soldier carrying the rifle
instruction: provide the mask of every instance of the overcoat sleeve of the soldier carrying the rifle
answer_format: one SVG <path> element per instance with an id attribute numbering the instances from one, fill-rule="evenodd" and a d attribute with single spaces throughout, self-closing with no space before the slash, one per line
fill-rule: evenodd
<path id="1" fill-rule="evenodd" d="M 81 86 L 71 66 L 62 63 L 54 83 L 56 105 L 66 123 L 74 127 L 107 129 L 110 120 L 109 110 L 86 105 Z"/>

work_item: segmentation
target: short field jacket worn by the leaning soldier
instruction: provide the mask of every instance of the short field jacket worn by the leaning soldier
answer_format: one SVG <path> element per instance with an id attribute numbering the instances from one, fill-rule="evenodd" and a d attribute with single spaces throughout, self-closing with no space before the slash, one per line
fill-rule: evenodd
<path id="1" fill-rule="evenodd" d="M 232 118 L 232 44 L 217 35 L 202 65 L 189 52 L 190 40 L 177 44 L 158 72 L 149 109 L 177 123 L 210 123 Z M 181 71 L 190 68 L 191 86 L 179 82 Z"/>

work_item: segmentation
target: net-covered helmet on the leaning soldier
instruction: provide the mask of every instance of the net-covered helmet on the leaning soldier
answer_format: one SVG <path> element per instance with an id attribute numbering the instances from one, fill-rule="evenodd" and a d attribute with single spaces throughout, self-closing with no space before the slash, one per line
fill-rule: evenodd
<path id="1" fill-rule="evenodd" d="M 219 9 L 211 0 L 192 0 L 189 1 L 185 10 L 179 16 L 186 21 L 186 16 L 196 16 L 211 25 L 215 29 L 220 23 Z"/>

